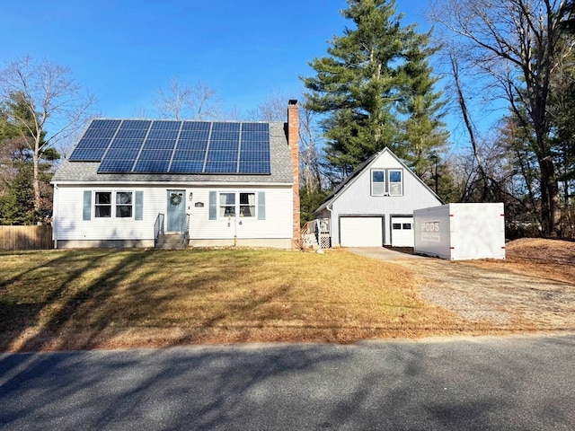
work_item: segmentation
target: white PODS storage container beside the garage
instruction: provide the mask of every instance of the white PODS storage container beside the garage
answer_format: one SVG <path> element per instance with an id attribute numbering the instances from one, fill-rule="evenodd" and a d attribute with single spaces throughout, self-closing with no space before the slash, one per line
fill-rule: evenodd
<path id="1" fill-rule="evenodd" d="M 442 259 L 505 259 L 502 203 L 459 203 L 413 212 L 419 254 Z"/>

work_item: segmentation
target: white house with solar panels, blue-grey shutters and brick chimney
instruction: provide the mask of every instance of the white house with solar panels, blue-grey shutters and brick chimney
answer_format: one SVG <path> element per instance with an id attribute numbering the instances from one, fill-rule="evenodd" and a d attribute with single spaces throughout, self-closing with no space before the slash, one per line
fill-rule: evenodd
<path id="1" fill-rule="evenodd" d="M 292 248 L 298 112 L 288 122 L 94 119 L 57 170 L 55 247 Z"/>

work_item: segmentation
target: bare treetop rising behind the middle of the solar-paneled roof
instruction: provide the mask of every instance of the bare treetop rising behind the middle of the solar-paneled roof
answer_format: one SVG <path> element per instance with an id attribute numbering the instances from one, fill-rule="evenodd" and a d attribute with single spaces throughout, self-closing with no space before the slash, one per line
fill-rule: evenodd
<path id="1" fill-rule="evenodd" d="M 215 119 L 219 115 L 216 90 L 201 81 L 183 84 L 177 75 L 166 88 L 157 90 L 154 104 L 169 119 Z"/>

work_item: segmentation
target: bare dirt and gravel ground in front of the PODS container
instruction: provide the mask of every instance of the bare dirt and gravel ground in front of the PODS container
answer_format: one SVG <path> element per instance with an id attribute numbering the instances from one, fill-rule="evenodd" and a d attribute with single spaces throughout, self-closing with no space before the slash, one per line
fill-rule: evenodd
<path id="1" fill-rule="evenodd" d="M 575 330 L 575 242 L 509 242 L 506 260 L 394 259 L 431 303 L 494 330 Z"/>

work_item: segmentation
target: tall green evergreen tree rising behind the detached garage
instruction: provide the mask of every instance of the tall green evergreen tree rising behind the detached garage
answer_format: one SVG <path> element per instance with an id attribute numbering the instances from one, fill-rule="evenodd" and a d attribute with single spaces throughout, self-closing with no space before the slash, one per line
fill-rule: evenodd
<path id="1" fill-rule="evenodd" d="M 447 135 L 439 120 L 427 57 L 429 34 L 403 27 L 394 0 L 348 0 L 342 15 L 353 22 L 334 36 L 328 56 L 310 63 L 302 78 L 306 108 L 321 112 L 326 154 L 344 177 L 359 163 L 391 147 L 418 172 Z"/>

